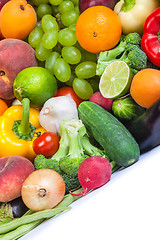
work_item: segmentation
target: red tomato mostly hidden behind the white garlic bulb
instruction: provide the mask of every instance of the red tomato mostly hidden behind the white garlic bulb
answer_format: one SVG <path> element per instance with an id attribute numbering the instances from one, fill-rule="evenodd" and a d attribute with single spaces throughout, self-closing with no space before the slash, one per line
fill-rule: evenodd
<path id="1" fill-rule="evenodd" d="M 71 97 L 77 104 L 77 108 L 78 108 L 79 104 L 83 101 L 83 99 L 81 99 L 80 97 L 77 96 L 77 94 L 75 93 L 75 91 L 73 90 L 72 87 L 59 88 L 55 97 L 59 97 L 59 96 Z"/>

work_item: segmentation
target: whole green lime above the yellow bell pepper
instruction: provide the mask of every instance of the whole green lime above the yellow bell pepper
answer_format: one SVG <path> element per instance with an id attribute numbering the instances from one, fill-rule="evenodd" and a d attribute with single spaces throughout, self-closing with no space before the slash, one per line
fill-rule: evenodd
<path id="1" fill-rule="evenodd" d="M 56 94 L 57 81 L 49 70 L 29 67 L 16 76 L 13 91 L 19 101 L 29 98 L 32 107 L 42 107 L 45 101 Z"/>

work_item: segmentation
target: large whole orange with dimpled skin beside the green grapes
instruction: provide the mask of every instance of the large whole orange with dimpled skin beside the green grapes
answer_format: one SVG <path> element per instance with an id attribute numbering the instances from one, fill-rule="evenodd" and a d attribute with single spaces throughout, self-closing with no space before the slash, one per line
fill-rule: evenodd
<path id="1" fill-rule="evenodd" d="M 82 48 L 92 53 L 116 46 L 122 33 L 117 14 L 108 7 L 94 6 L 82 12 L 76 23 L 76 36 Z"/>

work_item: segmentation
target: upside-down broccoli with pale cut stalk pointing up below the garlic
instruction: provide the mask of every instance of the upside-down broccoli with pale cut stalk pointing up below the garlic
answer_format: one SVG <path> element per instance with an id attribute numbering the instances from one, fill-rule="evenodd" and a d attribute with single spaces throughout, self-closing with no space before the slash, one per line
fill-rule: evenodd
<path id="1" fill-rule="evenodd" d="M 81 120 L 63 120 L 59 126 L 60 146 L 51 157 L 37 155 L 35 169 L 49 168 L 57 171 L 66 184 L 66 193 L 80 185 L 78 168 L 88 156 L 102 156 L 104 151 L 93 146 L 89 141 L 86 128 Z"/>

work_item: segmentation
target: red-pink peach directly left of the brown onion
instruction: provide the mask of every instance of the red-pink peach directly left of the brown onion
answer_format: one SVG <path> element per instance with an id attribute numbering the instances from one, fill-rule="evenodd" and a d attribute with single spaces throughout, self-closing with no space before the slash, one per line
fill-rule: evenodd
<path id="1" fill-rule="evenodd" d="M 22 184 L 34 170 L 33 163 L 27 158 L 0 158 L 0 202 L 8 202 L 21 196 Z"/>

